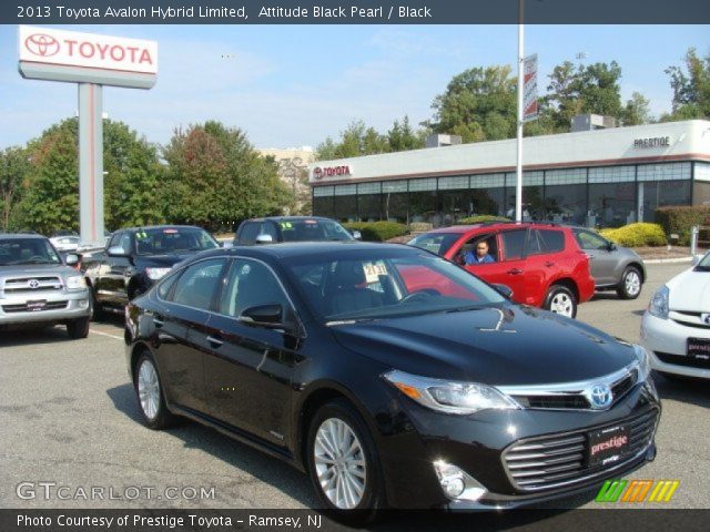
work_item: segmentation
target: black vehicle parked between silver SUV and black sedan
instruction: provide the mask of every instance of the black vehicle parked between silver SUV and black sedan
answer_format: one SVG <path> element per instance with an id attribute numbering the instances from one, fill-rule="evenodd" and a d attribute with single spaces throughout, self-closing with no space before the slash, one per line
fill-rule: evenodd
<path id="1" fill-rule="evenodd" d="M 119 229 L 106 247 L 82 254 L 82 269 L 94 300 L 94 310 L 121 310 L 125 304 L 190 256 L 219 247 L 204 229 L 187 225 L 161 225 Z"/>

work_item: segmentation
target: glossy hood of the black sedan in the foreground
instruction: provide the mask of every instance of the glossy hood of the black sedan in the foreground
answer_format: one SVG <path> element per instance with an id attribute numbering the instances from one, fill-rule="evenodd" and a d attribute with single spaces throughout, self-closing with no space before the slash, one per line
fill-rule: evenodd
<path id="1" fill-rule="evenodd" d="M 497 386 L 594 379 L 636 360 L 629 344 L 526 306 L 362 321 L 332 330 L 344 347 L 392 368 Z"/>

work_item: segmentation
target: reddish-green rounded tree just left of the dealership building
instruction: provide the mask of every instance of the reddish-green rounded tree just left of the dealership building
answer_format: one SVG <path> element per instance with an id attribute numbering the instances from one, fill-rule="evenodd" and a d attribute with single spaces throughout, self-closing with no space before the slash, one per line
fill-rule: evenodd
<path id="1" fill-rule="evenodd" d="M 209 121 L 176 130 L 163 150 L 166 217 L 212 231 L 291 204 L 273 158 L 261 156 L 239 129 Z"/>

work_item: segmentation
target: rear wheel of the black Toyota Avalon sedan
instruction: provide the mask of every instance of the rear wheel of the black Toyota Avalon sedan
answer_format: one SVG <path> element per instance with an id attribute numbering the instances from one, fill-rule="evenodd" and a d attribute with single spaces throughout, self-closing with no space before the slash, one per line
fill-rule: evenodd
<path id="1" fill-rule="evenodd" d="M 149 428 L 160 430 L 173 424 L 175 418 L 165 406 L 158 367 L 149 351 L 144 351 L 135 364 L 133 386 Z"/>

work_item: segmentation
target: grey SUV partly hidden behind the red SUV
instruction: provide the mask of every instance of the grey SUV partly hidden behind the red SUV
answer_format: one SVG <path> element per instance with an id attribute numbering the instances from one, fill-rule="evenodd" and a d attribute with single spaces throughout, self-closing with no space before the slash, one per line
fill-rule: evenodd
<path id="1" fill-rule="evenodd" d="M 607 241 L 599 233 L 572 227 L 579 247 L 589 255 L 597 290 L 616 290 L 621 299 L 636 299 L 646 283 L 646 265 L 633 249 Z"/>

